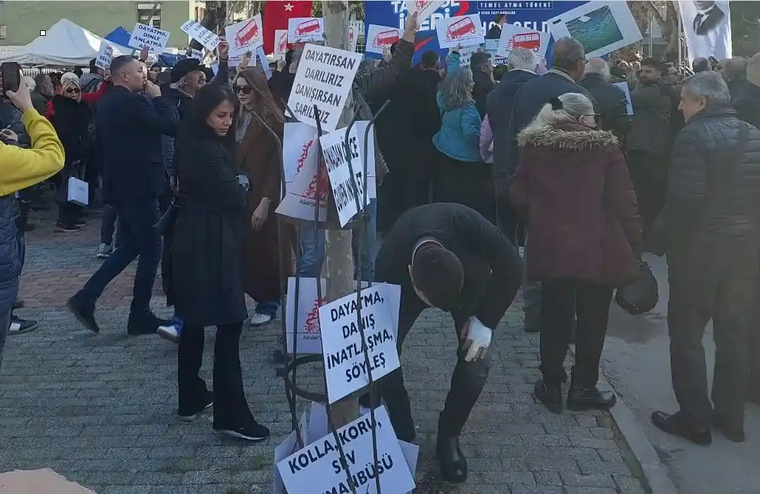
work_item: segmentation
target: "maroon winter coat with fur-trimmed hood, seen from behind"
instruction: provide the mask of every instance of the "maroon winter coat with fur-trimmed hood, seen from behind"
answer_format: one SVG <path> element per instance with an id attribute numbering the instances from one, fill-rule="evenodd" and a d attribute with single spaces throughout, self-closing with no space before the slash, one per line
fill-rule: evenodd
<path id="1" fill-rule="evenodd" d="M 642 222 L 616 137 L 580 124 L 529 126 L 518 145 L 510 197 L 530 232 L 528 278 L 634 281 Z"/>

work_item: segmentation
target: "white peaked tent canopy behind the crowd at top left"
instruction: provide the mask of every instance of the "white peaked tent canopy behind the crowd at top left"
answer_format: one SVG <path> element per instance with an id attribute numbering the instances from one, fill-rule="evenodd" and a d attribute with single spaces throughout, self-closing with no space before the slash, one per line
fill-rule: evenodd
<path id="1" fill-rule="evenodd" d="M 68 19 L 61 19 L 27 46 L 0 56 L 0 62 L 17 61 L 26 66 L 86 67 L 100 51 L 103 38 L 79 27 Z M 113 43 L 111 43 L 113 44 Z M 113 55 L 123 55 L 113 46 Z"/>

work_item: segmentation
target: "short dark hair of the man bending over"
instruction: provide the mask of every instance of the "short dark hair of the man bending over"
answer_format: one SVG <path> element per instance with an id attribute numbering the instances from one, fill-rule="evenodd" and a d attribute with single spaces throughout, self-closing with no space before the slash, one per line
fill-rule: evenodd
<path id="1" fill-rule="evenodd" d="M 456 306 L 464 286 L 464 266 L 451 250 L 435 242 L 420 245 L 411 274 L 415 288 L 430 304 L 443 310 Z"/>

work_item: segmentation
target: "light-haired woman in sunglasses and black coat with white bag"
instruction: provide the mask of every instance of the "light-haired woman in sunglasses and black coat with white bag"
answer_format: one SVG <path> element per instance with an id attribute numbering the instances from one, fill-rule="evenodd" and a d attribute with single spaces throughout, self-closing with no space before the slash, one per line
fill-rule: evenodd
<path id="1" fill-rule="evenodd" d="M 76 176 L 84 180 L 87 157 L 92 146 L 90 136 L 90 121 L 92 111 L 87 103 L 82 101 L 79 77 L 67 72 L 61 77 L 61 86 L 50 100 L 49 119 L 58 133 L 63 149 L 65 163 L 59 173 L 58 185 L 58 221 L 54 231 L 79 231 L 84 225 L 81 219 L 82 207 L 68 202 L 68 178 Z"/>

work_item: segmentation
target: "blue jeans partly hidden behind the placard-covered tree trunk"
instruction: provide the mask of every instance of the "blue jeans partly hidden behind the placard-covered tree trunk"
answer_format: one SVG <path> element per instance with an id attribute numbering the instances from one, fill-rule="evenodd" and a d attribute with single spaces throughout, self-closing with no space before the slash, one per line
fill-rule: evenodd
<path id="1" fill-rule="evenodd" d="M 355 279 L 372 281 L 375 278 L 375 256 L 378 247 L 378 203 L 372 199 L 367 206 L 369 221 L 364 223 L 360 234 L 362 250 L 359 252 L 359 229 L 353 231 L 353 276 Z M 325 260 L 325 231 L 318 230 L 316 237 L 314 229 L 306 227 L 300 233 L 301 255 L 298 263 L 298 274 L 303 278 L 318 278 L 319 268 Z"/>

